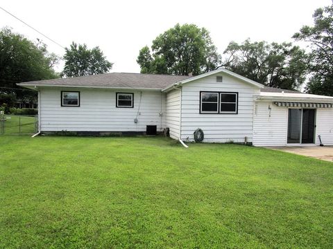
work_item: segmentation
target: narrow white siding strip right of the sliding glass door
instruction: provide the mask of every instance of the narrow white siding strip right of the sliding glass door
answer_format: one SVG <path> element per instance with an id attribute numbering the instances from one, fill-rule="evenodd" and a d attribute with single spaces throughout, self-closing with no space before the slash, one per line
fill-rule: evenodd
<path id="1" fill-rule="evenodd" d="M 316 113 L 316 144 L 319 145 L 318 135 L 321 135 L 324 145 L 333 145 L 333 109 L 320 108 Z"/>

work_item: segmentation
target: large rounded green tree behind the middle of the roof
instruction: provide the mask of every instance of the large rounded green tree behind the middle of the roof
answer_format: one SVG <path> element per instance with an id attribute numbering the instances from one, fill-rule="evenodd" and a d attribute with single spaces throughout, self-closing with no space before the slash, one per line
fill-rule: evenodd
<path id="1" fill-rule="evenodd" d="M 198 75 L 221 63 L 210 33 L 194 24 L 176 24 L 153 40 L 151 50 L 144 46 L 137 63 L 141 73 Z"/>

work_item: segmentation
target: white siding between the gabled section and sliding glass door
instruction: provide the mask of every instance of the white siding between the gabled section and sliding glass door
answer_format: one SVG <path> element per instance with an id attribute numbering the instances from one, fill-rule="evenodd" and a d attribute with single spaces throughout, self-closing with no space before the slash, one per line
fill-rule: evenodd
<path id="1" fill-rule="evenodd" d="M 268 106 L 271 106 L 271 117 Z M 273 102 L 256 102 L 253 118 L 253 145 L 283 146 L 287 144 L 288 109 Z"/>

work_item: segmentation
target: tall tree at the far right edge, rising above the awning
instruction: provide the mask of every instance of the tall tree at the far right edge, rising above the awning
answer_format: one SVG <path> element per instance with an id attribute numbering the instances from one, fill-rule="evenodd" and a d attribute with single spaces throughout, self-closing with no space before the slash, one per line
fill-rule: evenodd
<path id="1" fill-rule="evenodd" d="M 314 26 L 303 26 L 293 38 L 310 44 L 307 92 L 333 96 L 333 5 L 318 8 L 313 17 Z"/>

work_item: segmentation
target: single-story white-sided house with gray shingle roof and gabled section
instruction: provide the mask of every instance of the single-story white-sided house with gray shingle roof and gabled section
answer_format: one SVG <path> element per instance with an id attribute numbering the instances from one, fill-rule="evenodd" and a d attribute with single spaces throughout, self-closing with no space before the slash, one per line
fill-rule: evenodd
<path id="1" fill-rule="evenodd" d="M 107 73 L 24 82 L 38 91 L 41 132 L 143 133 L 203 142 L 333 145 L 333 98 L 264 87 L 223 68 L 202 75 Z M 151 130 L 150 130 L 151 131 Z"/>

